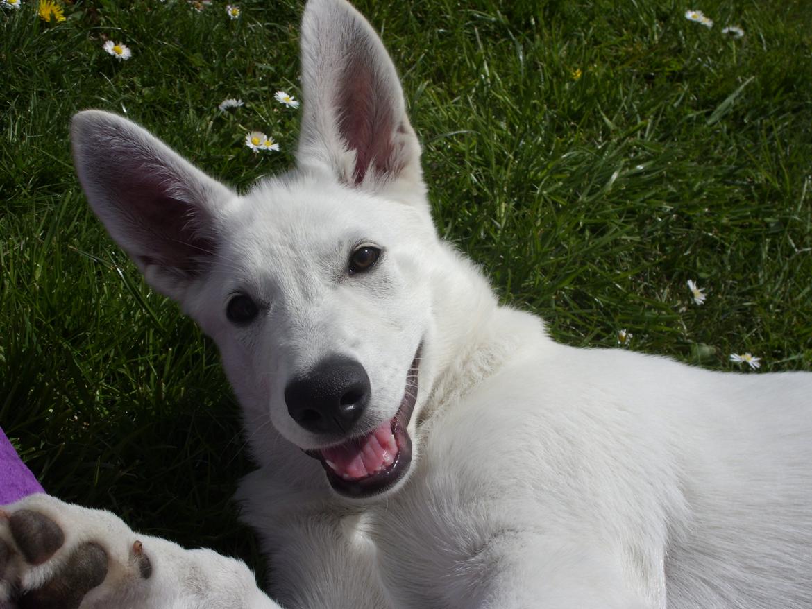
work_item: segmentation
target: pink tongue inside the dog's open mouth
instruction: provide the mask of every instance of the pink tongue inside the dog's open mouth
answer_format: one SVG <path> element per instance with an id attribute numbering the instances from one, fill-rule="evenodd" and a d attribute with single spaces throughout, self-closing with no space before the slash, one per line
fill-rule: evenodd
<path id="1" fill-rule="evenodd" d="M 383 423 L 365 438 L 356 438 L 322 450 L 322 457 L 330 469 L 345 480 L 357 480 L 378 473 L 389 467 L 397 454 L 392 421 Z"/>

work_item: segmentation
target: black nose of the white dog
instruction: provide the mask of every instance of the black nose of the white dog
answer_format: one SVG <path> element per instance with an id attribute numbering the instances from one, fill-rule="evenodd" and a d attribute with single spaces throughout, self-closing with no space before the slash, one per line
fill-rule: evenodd
<path id="1" fill-rule="evenodd" d="M 285 387 L 287 412 L 314 434 L 347 434 L 369 403 L 364 366 L 344 356 L 330 356 Z"/>

